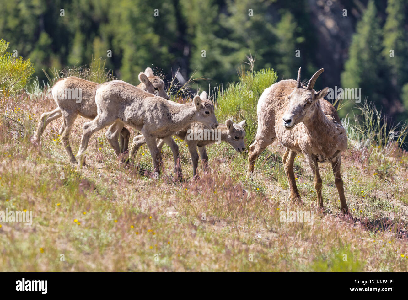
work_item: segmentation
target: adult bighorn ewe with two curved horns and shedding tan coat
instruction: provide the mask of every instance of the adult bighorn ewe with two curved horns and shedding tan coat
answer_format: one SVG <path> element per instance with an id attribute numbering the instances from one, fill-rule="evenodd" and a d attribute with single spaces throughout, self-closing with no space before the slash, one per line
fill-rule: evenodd
<path id="1" fill-rule="evenodd" d="M 320 208 L 323 208 L 322 178 L 317 163 L 330 161 L 339 192 L 340 209 L 346 213 L 348 207 L 340 173 L 340 153 L 347 148 L 347 136 L 336 109 L 323 99 L 328 88 L 318 92 L 313 89 L 317 77 L 323 71 L 324 69 L 317 71 L 304 87 L 300 82 L 299 68 L 297 81 L 281 80 L 262 93 L 257 107 L 258 130 L 255 142 L 249 146 L 247 177 L 253 174 L 255 160 L 259 154 L 278 138 L 286 147 L 283 162 L 289 182 L 290 199 L 301 200 L 293 173 L 293 161 L 297 153 L 304 153 L 315 177 Z"/>

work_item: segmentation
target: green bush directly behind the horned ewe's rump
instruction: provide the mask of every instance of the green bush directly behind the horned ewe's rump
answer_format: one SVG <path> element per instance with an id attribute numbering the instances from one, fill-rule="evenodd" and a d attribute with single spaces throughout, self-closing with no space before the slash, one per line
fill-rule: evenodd
<path id="1" fill-rule="evenodd" d="M 226 91 L 220 91 L 215 110 L 219 122 L 232 118 L 235 123 L 246 120 L 246 143 L 249 146 L 257 131 L 257 103 L 264 89 L 277 80 L 273 69 L 254 72 L 241 71 L 239 82 L 230 83 Z"/>

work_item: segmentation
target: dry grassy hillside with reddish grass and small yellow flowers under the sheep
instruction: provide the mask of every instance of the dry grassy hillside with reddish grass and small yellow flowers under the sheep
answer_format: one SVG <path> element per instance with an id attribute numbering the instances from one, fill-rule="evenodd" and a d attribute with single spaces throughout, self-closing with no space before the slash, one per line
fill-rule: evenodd
<path id="1" fill-rule="evenodd" d="M 367 142 L 368 133 L 350 125 L 354 140 L 341 167 L 350 215 L 339 212 L 330 164 L 320 165 L 326 211 L 319 215 L 303 155 L 295 176 L 305 204 L 288 201 L 277 143 L 257 160 L 252 182 L 246 154 L 225 143 L 208 147 L 212 171 L 201 168 L 194 181 L 186 143 L 175 140 L 185 180 L 175 183 L 169 147 L 166 172 L 155 180 L 146 176 L 146 146 L 124 168 L 102 130 L 78 169 L 59 139 L 61 119 L 40 144 L 30 142 L 41 113 L 55 108 L 44 93 L 2 103 L 0 211 L 33 211 L 33 224 L 0 223 L 0 271 L 408 271 L 408 155 Z M 83 122 L 71 131 L 74 153 Z M 285 222 L 282 211 L 313 219 Z"/>

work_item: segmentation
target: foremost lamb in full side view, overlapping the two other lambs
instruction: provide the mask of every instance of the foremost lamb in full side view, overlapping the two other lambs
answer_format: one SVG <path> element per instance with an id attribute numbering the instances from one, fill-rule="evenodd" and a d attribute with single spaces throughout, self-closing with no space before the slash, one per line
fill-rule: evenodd
<path id="1" fill-rule="evenodd" d="M 159 174 L 162 157 L 156 146 L 156 138 L 162 138 L 164 142 L 171 145 L 175 144 L 171 135 L 193 122 L 202 122 L 212 129 L 218 127 L 213 103 L 209 100 L 201 100 L 198 95 L 193 98 L 193 103 L 173 104 L 129 83 L 113 80 L 99 87 L 95 102 L 98 106 L 98 116 L 84 124 L 81 146 L 77 155 L 80 163 L 92 133 L 118 120 L 142 132 L 153 159 L 154 169 Z M 175 153 L 175 149 L 172 151 Z M 178 175 L 178 172 L 181 173 L 181 166 L 178 151 L 176 154 L 175 170 Z"/>

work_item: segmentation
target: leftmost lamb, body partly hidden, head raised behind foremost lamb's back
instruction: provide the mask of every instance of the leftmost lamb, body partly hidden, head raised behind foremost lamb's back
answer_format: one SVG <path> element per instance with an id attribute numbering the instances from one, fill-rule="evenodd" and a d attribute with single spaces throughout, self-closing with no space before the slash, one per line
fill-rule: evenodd
<path id="1" fill-rule="evenodd" d="M 139 80 L 141 83 L 138 87 L 141 89 L 169 99 L 164 89 L 163 80 L 154 76 L 151 68 L 147 68 L 144 73 L 141 72 Z M 95 92 L 99 86 L 100 84 L 98 83 L 75 76 L 67 77 L 55 83 L 51 93 L 58 107 L 51 112 L 41 115 L 33 141 L 36 142 L 40 139 L 47 124 L 63 116 L 62 127 L 59 131 L 60 136 L 70 161 L 76 163 L 75 156 L 69 145 L 69 133 L 78 114 L 88 119 L 96 117 Z M 120 122 L 113 124 L 106 132 L 106 136 L 116 155 L 119 155 L 121 150 L 124 152 L 128 149 L 130 133 L 129 130 L 121 126 Z M 118 143 L 118 136 L 121 140 L 120 145 Z"/>

